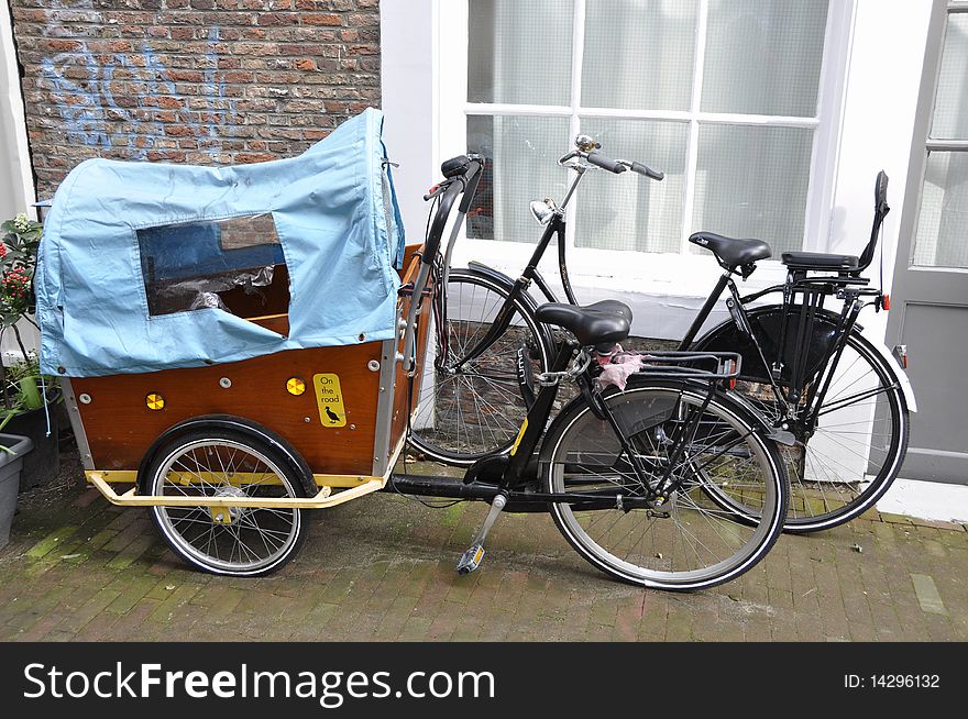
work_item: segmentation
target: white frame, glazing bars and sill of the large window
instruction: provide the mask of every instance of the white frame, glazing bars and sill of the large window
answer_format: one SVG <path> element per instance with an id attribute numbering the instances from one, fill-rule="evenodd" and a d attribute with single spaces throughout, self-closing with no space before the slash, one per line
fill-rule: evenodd
<path id="1" fill-rule="evenodd" d="M 574 245 L 574 206 L 570 208 L 568 230 L 569 263 L 571 279 L 578 286 L 601 285 L 606 278 L 612 287 L 646 294 L 675 294 L 705 296 L 711 283 L 718 274 L 715 261 L 705 253 L 689 253 L 688 235 L 692 223 L 694 204 L 694 178 L 697 165 L 698 124 L 723 123 L 745 125 L 771 125 L 809 128 L 814 130 L 811 157 L 811 178 L 804 214 L 804 240 L 802 248 L 812 252 L 828 252 L 833 197 L 836 190 L 838 164 L 838 139 L 840 135 L 842 108 L 846 91 L 845 78 L 850 55 L 853 23 L 856 16 L 856 0 L 833 0 L 827 14 L 824 37 L 824 55 L 817 89 L 817 113 L 814 118 L 790 118 L 778 115 L 713 113 L 700 110 L 702 91 L 703 59 L 705 54 L 706 18 L 710 0 L 700 0 L 697 32 L 693 62 L 693 96 L 690 111 L 622 110 L 606 108 L 583 108 L 581 99 L 581 68 L 584 48 L 585 0 L 575 0 L 572 37 L 571 103 L 568 106 L 525 106 L 504 103 L 472 103 L 468 97 L 468 0 L 447 0 L 438 5 L 439 57 L 446 58 L 438 65 L 436 95 L 439 98 L 439 119 L 437 122 L 436 155 L 446 158 L 466 151 L 468 115 L 528 115 L 569 118 L 570 134 L 579 131 L 581 117 L 668 120 L 689 123 L 686 147 L 686 176 L 682 208 L 682 235 L 680 252 L 647 253 L 638 251 L 615 251 Z M 539 30 L 536 29 L 536 32 Z M 570 150 L 562 144 L 562 154 Z M 607 148 L 604 148 L 607 154 Z M 649 163 L 648 157 L 635 157 Z M 660 168 L 661 169 L 661 168 Z M 561 170 L 564 173 L 565 170 Z M 581 191 L 581 188 L 580 190 Z M 531 197 L 521 197 L 528 202 Z M 560 199 L 560 198 L 559 198 Z M 696 228 L 696 230 L 700 228 Z M 515 274 L 524 267 L 540 234 L 535 225 L 534 241 L 507 242 L 499 240 L 475 240 L 463 237 L 458 243 L 455 259 L 465 262 L 474 258 L 498 269 Z M 769 237 L 762 237 L 769 242 Z M 524 237 L 520 240 L 529 240 Z M 551 254 L 551 253 L 549 253 Z M 777 261 L 779 257 L 777 257 Z M 777 262 L 761 264 L 760 272 L 751 278 L 750 288 L 766 287 L 782 280 L 784 270 Z M 674 283 L 672 281 L 674 279 Z"/>

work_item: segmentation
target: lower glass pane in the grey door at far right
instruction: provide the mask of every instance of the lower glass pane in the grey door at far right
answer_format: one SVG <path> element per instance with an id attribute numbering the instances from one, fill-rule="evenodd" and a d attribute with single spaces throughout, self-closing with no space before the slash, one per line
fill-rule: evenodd
<path id="1" fill-rule="evenodd" d="M 927 155 L 914 264 L 968 267 L 968 153 Z"/>

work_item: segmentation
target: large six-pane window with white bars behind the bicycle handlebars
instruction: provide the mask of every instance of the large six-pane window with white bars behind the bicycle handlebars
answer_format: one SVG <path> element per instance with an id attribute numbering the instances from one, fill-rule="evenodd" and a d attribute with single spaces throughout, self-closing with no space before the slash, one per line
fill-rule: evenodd
<path id="1" fill-rule="evenodd" d="M 470 235 L 534 242 L 528 200 L 560 199 L 583 132 L 667 179 L 590 174 L 576 246 L 690 252 L 707 230 L 801 248 L 829 4 L 469 0 L 468 145 L 492 161 Z"/>

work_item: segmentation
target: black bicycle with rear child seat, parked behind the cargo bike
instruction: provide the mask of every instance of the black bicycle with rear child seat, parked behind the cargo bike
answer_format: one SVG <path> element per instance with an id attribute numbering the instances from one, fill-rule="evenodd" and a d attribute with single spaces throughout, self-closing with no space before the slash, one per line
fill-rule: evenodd
<path id="1" fill-rule="evenodd" d="M 411 442 L 439 461 L 470 465 L 492 452 L 509 451 L 535 399 L 536 377 L 550 367 L 553 329 L 537 316 L 534 284 L 549 301 L 554 292 L 537 269 L 558 241 L 558 267 L 565 298 L 578 305 L 565 258 L 565 208 L 592 168 L 626 170 L 661 180 L 646 165 L 610 159 L 591 137 L 559 164 L 575 173 L 561 204 L 531 202 L 544 225 L 517 279 L 485 265 L 450 269 L 460 220 L 451 233 L 436 303 L 436 355 L 421 387 Z M 889 211 L 887 175 L 877 178 L 870 240 L 859 257 L 806 252 L 782 255 L 787 281 L 741 296 L 756 263 L 771 256 L 766 242 L 697 232 L 690 237 L 716 257 L 724 273 L 680 343 L 680 350 L 729 351 L 743 357 L 736 394 L 766 417 L 774 438 L 787 442 L 791 477 L 785 529 L 811 532 L 857 517 L 887 491 L 908 445 L 909 410 L 915 409 L 906 376 L 884 347 L 861 335 L 857 322 L 868 306 L 887 309 L 888 298 L 861 273 L 870 266 Z M 730 318 L 696 338 L 726 292 Z M 780 301 L 754 303 L 768 295 Z M 826 307 L 834 301 L 842 305 Z M 751 516 L 741 502 L 722 506 Z"/>

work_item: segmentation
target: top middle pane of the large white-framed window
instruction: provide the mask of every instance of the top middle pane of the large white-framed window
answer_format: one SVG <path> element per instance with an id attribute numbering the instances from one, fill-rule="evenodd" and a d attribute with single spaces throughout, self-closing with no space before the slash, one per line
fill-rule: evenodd
<path id="1" fill-rule="evenodd" d="M 582 106 L 689 110 L 696 0 L 588 0 Z"/>

